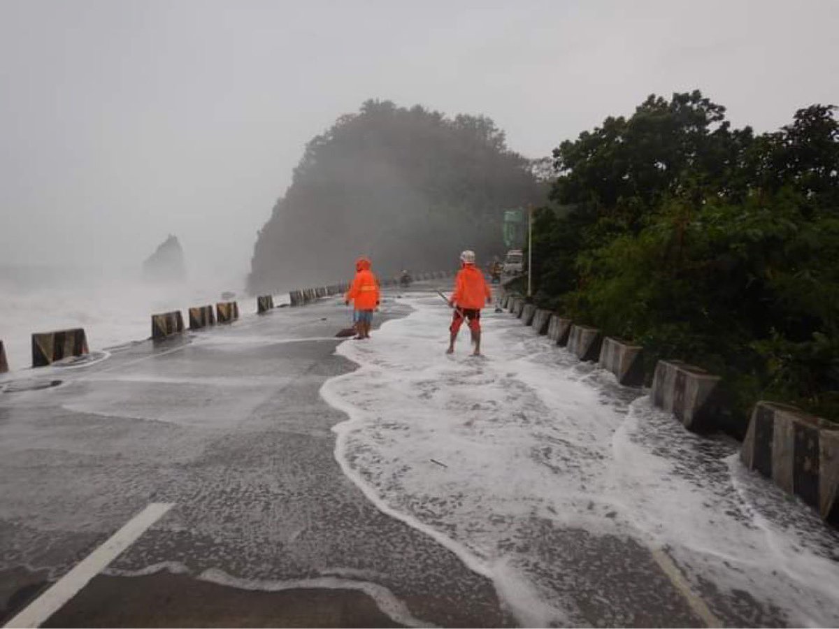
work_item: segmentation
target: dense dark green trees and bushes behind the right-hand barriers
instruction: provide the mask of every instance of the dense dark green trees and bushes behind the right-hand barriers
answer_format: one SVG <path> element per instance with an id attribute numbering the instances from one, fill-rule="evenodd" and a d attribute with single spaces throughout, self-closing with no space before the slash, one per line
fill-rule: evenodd
<path id="1" fill-rule="evenodd" d="M 554 151 L 534 220 L 535 299 L 725 377 L 839 417 L 839 123 L 795 113 L 735 129 L 701 96 L 649 96 Z"/>

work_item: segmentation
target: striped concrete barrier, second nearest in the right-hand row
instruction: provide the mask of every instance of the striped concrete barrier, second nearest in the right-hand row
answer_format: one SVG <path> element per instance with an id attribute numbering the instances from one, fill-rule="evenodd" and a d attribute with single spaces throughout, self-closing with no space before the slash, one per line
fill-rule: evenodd
<path id="1" fill-rule="evenodd" d="M 673 413 L 686 429 L 701 431 L 714 424 L 719 376 L 682 361 L 659 361 L 655 366 L 653 403 Z"/>

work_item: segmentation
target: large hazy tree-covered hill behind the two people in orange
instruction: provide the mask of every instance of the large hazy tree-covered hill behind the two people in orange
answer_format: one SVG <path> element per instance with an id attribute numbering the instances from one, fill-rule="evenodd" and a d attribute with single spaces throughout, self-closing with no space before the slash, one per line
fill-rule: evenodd
<path id="1" fill-rule="evenodd" d="M 487 117 L 367 101 L 306 147 L 260 231 L 249 288 L 332 282 L 359 255 L 379 273 L 501 253 L 503 210 L 544 201 L 528 160 Z"/>

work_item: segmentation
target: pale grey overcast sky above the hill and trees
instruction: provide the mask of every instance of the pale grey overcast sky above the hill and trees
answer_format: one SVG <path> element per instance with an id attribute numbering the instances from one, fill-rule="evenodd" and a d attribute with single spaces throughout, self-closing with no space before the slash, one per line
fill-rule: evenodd
<path id="1" fill-rule="evenodd" d="M 839 103 L 839 1 L 0 0 L 0 265 L 248 270 L 305 143 L 367 98 L 529 157 L 649 93 L 737 126 Z"/>

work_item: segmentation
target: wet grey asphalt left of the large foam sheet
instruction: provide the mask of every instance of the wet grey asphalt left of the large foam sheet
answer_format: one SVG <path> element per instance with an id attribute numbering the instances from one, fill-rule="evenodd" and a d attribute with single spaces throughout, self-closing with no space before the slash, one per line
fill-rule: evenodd
<path id="1" fill-rule="evenodd" d="M 387 294 L 377 322 L 406 312 Z M 331 426 L 346 417 L 318 391 L 352 369 L 333 353 L 347 325 L 323 299 L 0 381 L 0 621 L 150 502 L 173 502 L 48 624 L 399 624 L 365 588 L 414 621 L 513 624 L 491 582 L 341 473 Z"/>

